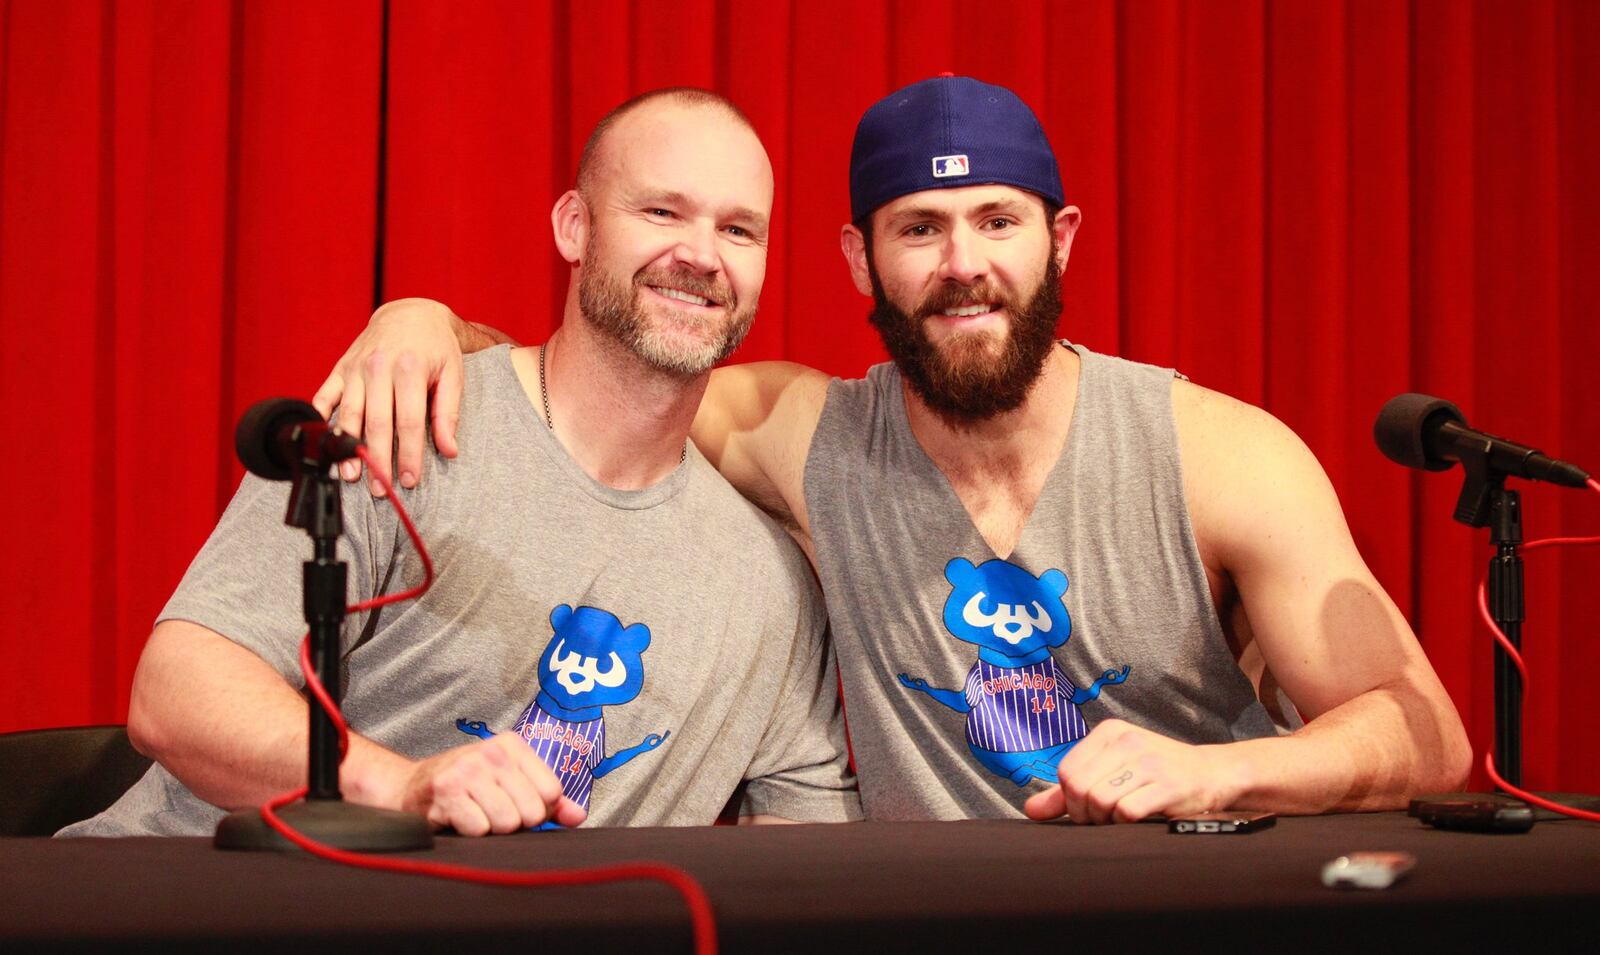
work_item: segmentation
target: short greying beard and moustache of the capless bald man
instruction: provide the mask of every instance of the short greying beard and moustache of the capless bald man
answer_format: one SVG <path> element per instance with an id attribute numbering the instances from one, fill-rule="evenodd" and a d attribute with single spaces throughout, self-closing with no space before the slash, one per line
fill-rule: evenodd
<path id="1" fill-rule="evenodd" d="M 584 251 L 584 261 L 595 261 L 592 238 Z M 701 347 L 672 347 L 656 334 L 645 318 L 645 307 L 638 298 L 645 293 L 646 285 L 669 285 L 725 302 L 726 318 L 722 320 L 722 328 L 715 330 L 715 336 Z M 731 286 L 710 282 L 693 272 L 659 269 L 637 272 L 632 283 L 624 283 L 600 269 L 584 269 L 582 278 L 578 282 L 578 310 L 590 325 L 621 342 L 650 366 L 683 376 L 707 371 L 731 355 L 749 334 L 750 323 L 755 322 L 755 304 L 741 309 Z M 712 322 L 717 318 L 706 318 L 706 325 Z"/>

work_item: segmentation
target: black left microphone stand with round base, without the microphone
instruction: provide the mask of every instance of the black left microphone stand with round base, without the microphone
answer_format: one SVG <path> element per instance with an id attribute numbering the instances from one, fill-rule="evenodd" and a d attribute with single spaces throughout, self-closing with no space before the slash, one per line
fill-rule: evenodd
<path id="1" fill-rule="evenodd" d="M 312 560 L 304 565 L 304 608 L 310 624 L 310 657 L 328 697 L 344 696 L 339 629 L 344 624 L 346 563 L 336 545 L 344 533 L 339 481 L 333 461 L 307 454 L 299 461 L 294 491 L 283 523 L 304 528 L 312 539 Z M 294 830 L 341 849 L 403 853 L 434 848 L 434 833 L 422 816 L 344 801 L 339 792 L 339 729 L 315 696 L 309 699 L 310 741 L 306 798 L 277 811 Z M 261 817 L 261 809 L 230 813 L 216 827 L 219 849 L 294 849 Z"/>

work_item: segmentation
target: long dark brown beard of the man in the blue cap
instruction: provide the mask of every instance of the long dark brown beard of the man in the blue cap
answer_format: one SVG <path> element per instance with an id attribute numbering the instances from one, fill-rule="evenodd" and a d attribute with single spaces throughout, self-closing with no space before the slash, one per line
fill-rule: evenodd
<path id="1" fill-rule="evenodd" d="M 872 275 L 872 312 L 867 318 L 912 392 L 934 414 L 954 429 L 965 429 L 1022 406 L 1056 342 L 1056 322 L 1061 318 L 1061 267 L 1056 266 L 1054 243 L 1043 282 L 1021 307 L 989 285 L 946 285 L 907 315 L 888 301 L 870 256 L 867 270 Z M 1010 334 L 998 354 L 994 354 L 995 338 L 987 333 L 957 333 L 942 347 L 928 341 L 923 333 L 928 315 L 978 302 L 998 304 L 1011 315 Z"/>

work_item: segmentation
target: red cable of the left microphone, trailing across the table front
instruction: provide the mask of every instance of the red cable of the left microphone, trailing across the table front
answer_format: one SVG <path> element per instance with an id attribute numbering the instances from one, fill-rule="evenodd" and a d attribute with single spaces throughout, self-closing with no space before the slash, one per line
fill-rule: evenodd
<path id="1" fill-rule="evenodd" d="M 373 467 L 371 459 L 366 458 L 366 446 L 357 450 L 362 461 L 366 464 L 368 470 L 378 477 L 378 481 L 384 486 L 384 493 L 395 507 L 395 513 L 400 517 L 400 523 L 405 525 L 406 534 L 411 537 L 411 545 L 416 547 L 418 555 L 422 558 L 422 582 L 410 590 L 402 590 L 400 593 L 387 593 L 382 597 L 374 597 L 373 600 L 365 600 L 347 608 L 346 613 L 360 613 L 384 606 L 389 603 L 397 603 L 400 600 L 410 600 L 421 595 L 424 590 L 434 585 L 434 561 L 427 555 L 427 549 L 422 545 L 422 537 L 416 533 L 416 526 L 411 523 L 411 517 L 405 512 L 405 505 L 395 496 L 394 486 L 389 483 L 389 477 Z M 317 670 L 310 659 L 310 633 L 301 640 L 301 670 L 306 673 L 306 686 L 310 689 L 312 696 L 322 704 L 328 718 L 339 729 L 339 761 L 344 761 L 346 750 L 350 745 L 349 726 L 344 721 L 344 715 L 339 707 L 334 705 L 333 699 L 328 696 L 326 688 L 317 678 Z M 694 880 L 688 872 L 667 865 L 664 862 L 621 862 L 616 865 L 595 865 L 592 869 L 550 869 L 546 872 L 506 872 L 496 869 L 477 869 L 472 865 L 450 865 L 443 862 L 418 862 L 414 859 L 394 859 L 381 856 L 368 856 L 363 853 L 350 853 L 346 849 L 338 849 L 334 846 L 320 843 L 314 838 L 296 832 L 288 822 L 278 817 L 277 809 L 293 803 L 294 800 L 304 798 L 307 787 L 299 787 L 293 792 L 286 792 L 280 797 L 274 797 L 266 805 L 261 806 L 261 817 L 278 832 L 283 838 L 290 840 L 301 849 L 328 859 L 330 862 L 339 862 L 342 865 L 354 865 L 357 869 L 376 869 L 379 872 L 402 872 L 408 875 L 427 875 L 430 878 L 450 878 L 456 881 L 472 881 L 480 885 L 501 885 L 501 886 L 555 886 L 555 885 L 600 885 L 610 881 L 661 881 L 669 888 L 677 891 L 683 902 L 690 909 L 690 925 L 694 931 L 694 952 L 699 955 L 717 955 L 717 923 L 710 913 L 710 899 L 706 896 L 706 889 Z"/>

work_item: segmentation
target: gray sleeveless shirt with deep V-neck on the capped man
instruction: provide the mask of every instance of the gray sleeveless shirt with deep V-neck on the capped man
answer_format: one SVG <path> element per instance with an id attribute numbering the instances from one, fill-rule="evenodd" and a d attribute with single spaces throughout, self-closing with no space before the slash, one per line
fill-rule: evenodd
<path id="1" fill-rule="evenodd" d="M 1006 560 L 912 435 L 893 365 L 829 387 L 805 499 L 872 819 L 1019 816 L 1110 717 L 1275 733 L 1211 605 L 1173 371 L 1072 347 L 1067 443 Z"/>

